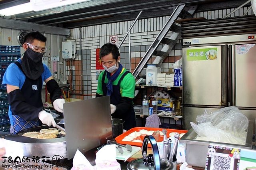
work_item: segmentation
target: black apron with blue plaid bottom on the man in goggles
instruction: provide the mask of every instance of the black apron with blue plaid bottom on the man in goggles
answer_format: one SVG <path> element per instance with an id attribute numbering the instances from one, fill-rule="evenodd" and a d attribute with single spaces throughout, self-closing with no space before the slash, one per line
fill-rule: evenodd
<path id="1" fill-rule="evenodd" d="M 15 61 L 14 63 L 23 72 L 20 63 L 18 61 Z M 25 82 L 20 90 L 24 94 L 26 103 L 28 103 L 34 107 L 37 107 L 37 108 L 43 108 L 42 96 L 41 96 L 42 76 L 40 76 L 36 80 L 29 79 L 26 76 Z M 12 115 L 12 117 L 14 120 L 14 134 L 16 134 L 19 131 L 24 130 L 26 128 L 36 127 L 36 126 L 41 125 L 41 122 L 39 123 L 39 121 L 36 121 L 36 120 L 35 121 L 26 121 L 26 120 L 22 119 L 21 117 L 19 117 L 18 115 Z"/>

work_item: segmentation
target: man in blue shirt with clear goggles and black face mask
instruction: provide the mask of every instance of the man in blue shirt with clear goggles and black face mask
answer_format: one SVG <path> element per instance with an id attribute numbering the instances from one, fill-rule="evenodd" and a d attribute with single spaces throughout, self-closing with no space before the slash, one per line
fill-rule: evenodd
<path id="1" fill-rule="evenodd" d="M 40 32 L 29 32 L 23 43 L 24 56 L 11 63 L 3 77 L 9 101 L 10 132 L 45 124 L 55 127 L 50 113 L 43 110 L 41 91 L 46 83 L 54 109 L 63 112 L 64 99 L 60 99 L 61 89 L 53 79 L 50 69 L 42 63 L 46 52 L 46 37 Z"/>

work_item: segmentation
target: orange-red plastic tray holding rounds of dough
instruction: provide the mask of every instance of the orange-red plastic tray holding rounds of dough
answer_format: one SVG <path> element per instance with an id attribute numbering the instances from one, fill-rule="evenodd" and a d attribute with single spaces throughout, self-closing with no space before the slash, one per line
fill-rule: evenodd
<path id="1" fill-rule="evenodd" d="M 146 134 L 142 134 L 142 135 L 141 135 L 140 138 L 142 139 L 142 142 L 122 141 L 122 139 L 123 139 L 125 136 L 128 136 L 130 133 L 135 132 L 135 131 L 139 132 L 139 131 L 142 130 L 142 129 L 145 129 L 145 130 L 148 130 L 148 131 L 150 131 L 150 130 L 154 130 L 154 131 L 159 130 L 159 131 L 162 132 L 162 130 L 165 129 L 165 128 L 149 128 L 149 127 L 136 127 L 136 128 L 131 128 L 130 130 L 128 130 L 128 131 L 126 131 L 126 132 L 120 134 L 119 136 L 117 136 L 117 137 L 115 138 L 115 140 L 116 140 L 116 142 L 119 143 L 119 144 L 130 144 L 130 145 L 133 145 L 133 146 L 142 146 L 142 142 L 143 142 L 144 137 L 146 136 Z M 188 130 L 177 130 L 177 129 L 168 129 L 168 128 L 166 129 L 166 131 L 167 131 L 167 133 L 166 133 L 167 138 L 170 137 L 169 134 L 170 134 L 171 132 L 178 132 L 179 134 L 188 132 Z M 162 142 L 163 140 L 164 140 L 164 136 L 160 136 L 158 142 Z M 150 142 L 148 142 L 148 146 L 151 146 L 151 145 L 150 145 Z"/>

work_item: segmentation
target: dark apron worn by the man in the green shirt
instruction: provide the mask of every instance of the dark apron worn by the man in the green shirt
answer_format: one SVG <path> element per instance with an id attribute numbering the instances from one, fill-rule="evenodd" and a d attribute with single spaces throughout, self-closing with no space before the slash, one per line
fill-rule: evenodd
<path id="1" fill-rule="evenodd" d="M 103 77 L 102 77 L 102 91 L 103 91 L 103 95 L 106 96 L 107 94 L 107 84 L 104 82 L 105 77 L 106 77 L 106 72 L 104 71 L 103 73 Z M 120 93 L 120 83 L 121 81 L 124 79 L 124 76 L 126 76 L 128 73 L 130 73 L 130 71 L 126 71 L 122 77 L 120 78 L 120 80 L 118 81 L 117 85 L 113 85 L 113 93 L 110 96 L 110 103 L 113 105 L 118 105 L 120 103 L 120 101 L 122 100 L 122 96 Z M 113 119 L 122 119 L 124 120 L 124 129 L 125 130 L 130 130 L 131 128 L 136 127 L 136 116 L 135 116 L 135 112 L 132 106 L 130 106 L 130 108 L 128 109 L 128 111 L 126 113 L 123 113 L 120 117 L 119 116 L 114 116 L 112 114 L 112 118 Z"/>

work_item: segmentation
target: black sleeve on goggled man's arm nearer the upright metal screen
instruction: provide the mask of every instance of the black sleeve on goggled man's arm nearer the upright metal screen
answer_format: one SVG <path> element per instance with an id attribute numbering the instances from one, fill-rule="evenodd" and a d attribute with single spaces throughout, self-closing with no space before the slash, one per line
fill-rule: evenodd
<path id="1" fill-rule="evenodd" d="M 46 88 L 47 88 L 47 91 L 50 93 L 50 99 L 53 105 L 53 102 L 56 99 L 60 99 L 61 89 L 58 83 L 54 79 L 51 79 L 46 83 Z"/>

